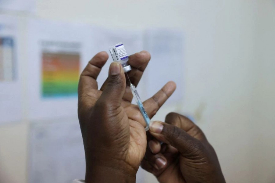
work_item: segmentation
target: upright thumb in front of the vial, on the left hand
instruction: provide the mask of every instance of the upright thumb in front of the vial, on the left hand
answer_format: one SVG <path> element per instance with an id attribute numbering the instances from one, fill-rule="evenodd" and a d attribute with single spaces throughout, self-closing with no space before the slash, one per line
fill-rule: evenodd
<path id="1" fill-rule="evenodd" d="M 99 100 L 107 102 L 110 107 L 119 107 L 126 88 L 125 75 L 119 63 L 112 62 L 105 89 Z"/>

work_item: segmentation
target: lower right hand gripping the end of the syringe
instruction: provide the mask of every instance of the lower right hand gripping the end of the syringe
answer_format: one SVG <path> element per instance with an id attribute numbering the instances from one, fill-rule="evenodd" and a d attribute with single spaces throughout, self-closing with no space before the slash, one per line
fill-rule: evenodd
<path id="1" fill-rule="evenodd" d="M 215 150 L 200 128 L 177 113 L 169 113 L 165 122 L 150 124 L 152 135 L 141 167 L 160 183 L 225 182 Z"/>

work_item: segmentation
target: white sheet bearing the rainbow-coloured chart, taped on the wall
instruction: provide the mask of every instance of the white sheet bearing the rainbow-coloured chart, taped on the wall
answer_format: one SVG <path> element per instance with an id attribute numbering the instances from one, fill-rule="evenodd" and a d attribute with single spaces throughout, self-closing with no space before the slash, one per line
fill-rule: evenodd
<path id="1" fill-rule="evenodd" d="M 32 120 L 77 115 L 82 62 L 91 57 L 90 26 L 31 20 L 28 94 Z"/>

